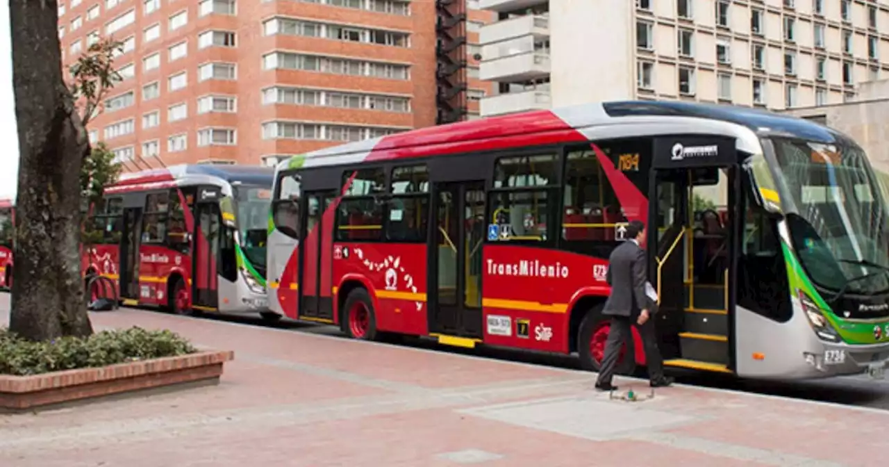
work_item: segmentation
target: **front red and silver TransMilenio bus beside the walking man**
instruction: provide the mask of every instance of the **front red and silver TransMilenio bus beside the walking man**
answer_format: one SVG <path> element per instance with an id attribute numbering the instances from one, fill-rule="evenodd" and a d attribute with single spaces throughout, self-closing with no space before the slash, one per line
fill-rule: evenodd
<path id="1" fill-rule="evenodd" d="M 356 141 L 276 168 L 271 310 L 356 339 L 577 352 L 597 370 L 608 256 L 650 230 L 673 370 L 868 372 L 889 358 L 886 198 L 850 138 L 685 102 L 540 110 Z M 621 373 L 645 366 L 634 332 Z"/>

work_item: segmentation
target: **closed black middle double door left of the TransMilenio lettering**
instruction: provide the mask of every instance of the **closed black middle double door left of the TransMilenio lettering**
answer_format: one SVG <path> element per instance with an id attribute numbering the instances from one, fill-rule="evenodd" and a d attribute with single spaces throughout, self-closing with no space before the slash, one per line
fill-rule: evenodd
<path id="1" fill-rule="evenodd" d="M 481 338 L 485 181 L 436 183 L 432 212 L 429 333 Z"/>

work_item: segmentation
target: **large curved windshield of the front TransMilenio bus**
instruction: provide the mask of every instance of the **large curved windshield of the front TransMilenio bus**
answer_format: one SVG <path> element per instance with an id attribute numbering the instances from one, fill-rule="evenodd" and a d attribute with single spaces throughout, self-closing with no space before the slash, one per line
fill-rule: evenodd
<path id="1" fill-rule="evenodd" d="M 805 272 L 837 294 L 889 291 L 885 197 L 864 151 L 853 143 L 773 142 Z"/>

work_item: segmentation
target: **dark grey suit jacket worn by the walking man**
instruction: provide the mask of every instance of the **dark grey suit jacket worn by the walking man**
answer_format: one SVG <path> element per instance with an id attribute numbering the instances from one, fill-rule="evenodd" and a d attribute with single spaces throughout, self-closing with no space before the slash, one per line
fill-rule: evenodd
<path id="1" fill-rule="evenodd" d="M 605 280 L 612 287 L 602 313 L 610 316 L 631 317 L 643 308 L 654 312 L 653 303 L 645 294 L 647 262 L 645 250 L 634 241 L 626 241 L 614 248 L 608 258 Z"/>

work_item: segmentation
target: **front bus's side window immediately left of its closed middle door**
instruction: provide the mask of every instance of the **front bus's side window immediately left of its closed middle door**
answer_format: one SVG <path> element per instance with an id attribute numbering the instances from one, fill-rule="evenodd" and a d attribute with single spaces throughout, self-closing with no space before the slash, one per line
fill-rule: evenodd
<path id="1" fill-rule="evenodd" d="M 386 239 L 394 242 L 425 242 L 429 213 L 429 173 L 426 165 L 392 170 Z"/>

